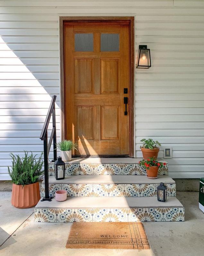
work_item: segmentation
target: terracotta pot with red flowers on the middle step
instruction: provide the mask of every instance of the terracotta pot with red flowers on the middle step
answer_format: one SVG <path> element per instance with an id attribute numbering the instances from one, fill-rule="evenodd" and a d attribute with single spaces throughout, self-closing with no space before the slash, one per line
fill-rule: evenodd
<path id="1" fill-rule="evenodd" d="M 166 163 L 158 162 L 155 157 L 150 157 L 147 160 L 142 159 L 139 161 L 139 166 L 143 166 L 146 169 L 147 178 L 156 179 L 159 168 L 165 166 Z"/>

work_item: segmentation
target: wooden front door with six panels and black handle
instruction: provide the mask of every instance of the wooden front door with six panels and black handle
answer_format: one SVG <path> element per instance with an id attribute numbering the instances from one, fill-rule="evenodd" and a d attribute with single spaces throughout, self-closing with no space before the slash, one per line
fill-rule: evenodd
<path id="1" fill-rule="evenodd" d="M 65 138 L 78 144 L 73 154 L 129 155 L 129 52 L 129 25 L 64 24 Z"/>

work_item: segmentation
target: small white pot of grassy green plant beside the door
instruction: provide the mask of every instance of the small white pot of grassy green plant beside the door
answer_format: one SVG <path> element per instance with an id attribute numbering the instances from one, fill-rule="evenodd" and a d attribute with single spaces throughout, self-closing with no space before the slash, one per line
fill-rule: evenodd
<path id="1" fill-rule="evenodd" d="M 57 143 L 56 146 L 61 151 L 62 160 L 64 162 L 71 161 L 72 150 L 76 149 L 77 144 L 70 140 L 64 140 L 64 141 Z"/>

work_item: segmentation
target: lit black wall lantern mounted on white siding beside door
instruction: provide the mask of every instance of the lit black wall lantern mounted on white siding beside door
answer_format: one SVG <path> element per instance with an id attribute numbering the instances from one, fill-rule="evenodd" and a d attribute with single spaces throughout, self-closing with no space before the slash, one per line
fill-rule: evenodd
<path id="1" fill-rule="evenodd" d="M 150 68 L 150 67 L 151 67 L 150 49 L 147 49 L 146 45 L 139 45 L 136 68 Z"/>

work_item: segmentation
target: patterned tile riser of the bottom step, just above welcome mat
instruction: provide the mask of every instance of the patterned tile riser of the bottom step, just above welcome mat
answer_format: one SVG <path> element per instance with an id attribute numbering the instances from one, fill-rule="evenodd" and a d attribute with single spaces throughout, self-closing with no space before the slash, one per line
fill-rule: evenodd
<path id="1" fill-rule="evenodd" d="M 183 222 L 184 207 L 35 209 L 35 222 Z"/>

